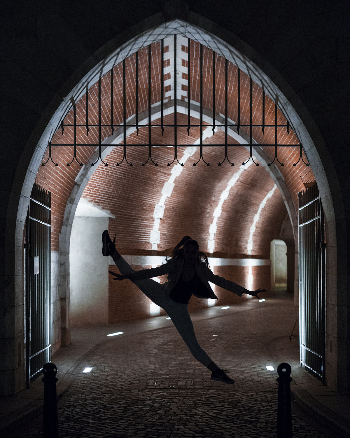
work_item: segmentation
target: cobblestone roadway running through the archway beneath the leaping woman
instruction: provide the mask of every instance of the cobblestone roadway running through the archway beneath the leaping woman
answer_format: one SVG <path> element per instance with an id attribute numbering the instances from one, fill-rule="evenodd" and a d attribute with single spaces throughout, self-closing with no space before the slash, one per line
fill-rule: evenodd
<path id="1" fill-rule="evenodd" d="M 92 371 L 77 374 L 65 394 L 59 436 L 274 438 L 277 374 L 265 365 L 276 366 L 269 346 L 289 344 L 293 325 L 288 299 L 194 322 L 201 346 L 234 385 L 210 381 L 174 327 L 99 344 L 84 357 L 81 371 Z M 16 436 L 41 434 L 38 422 Z M 293 436 L 325 437 L 294 414 Z"/>

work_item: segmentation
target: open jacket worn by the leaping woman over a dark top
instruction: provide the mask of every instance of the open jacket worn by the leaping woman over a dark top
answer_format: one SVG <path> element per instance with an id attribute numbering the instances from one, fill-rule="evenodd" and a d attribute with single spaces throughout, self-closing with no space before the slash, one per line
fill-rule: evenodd
<path id="1" fill-rule="evenodd" d="M 183 258 L 172 258 L 164 265 L 158 266 L 158 268 L 151 269 L 141 269 L 140 271 L 133 272 L 132 281 L 143 280 L 152 277 L 159 277 L 168 274 L 168 280 L 164 283 L 164 290 L 169 295 L 169 293 L 174 288 L 175 284 L 178 282 L 183 269 L 184 259 Z M 242 293 L 248 293 L 249 290 L 242 286 L 234 283 L 233 281 L 226 280 L 223 277 L 214 275 L 207 265 L 202 261 L 195 261 L 196 274 L 200 278 L 203 285 L 207 288 L 210 293 L 210 298 L 217 300 L 217 296 L 210 287 L 209 282 L 222 287 L 223 289 L 229 290 L 230 292 L 236 293 L 238 297 L 242 296 Z M 204 298 L 196 295 L 198 298 Z M 207 297 L 205 297 L 207 298 Z"/>

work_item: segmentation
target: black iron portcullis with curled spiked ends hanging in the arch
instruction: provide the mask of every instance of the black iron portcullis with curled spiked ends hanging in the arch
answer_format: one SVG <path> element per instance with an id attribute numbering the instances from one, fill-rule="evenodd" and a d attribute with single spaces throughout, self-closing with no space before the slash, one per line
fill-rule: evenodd
<path id="1" fill-rule="evenodd" d="M 72 110 L 66 115 L 59 126 L 62 141 L 59 140 L 57 142 L 57 138 L 52 138 L 52 141 L 49 142 L 49 156 L 48 159 L 42 163 L 42 166 L 45 166 L 49 160 L 53 162 L 51 155 L 52 146 L 73 147 L 73 156 L 71 161 L 67 162 L 67 166 L 70 166 L 73 161 L 76 161 L 83 166 L 83 163 L 77 156 L 77 147 L 95 146 L 98 149 L 99 157 L 95 162 L 91 163 L 91 166 L 95 166 L 98 161 L 104 163 L 105 166 L 108 166 L 108 163 L 102 161 L 101 148 L 104 137 L 106 135 L 113 135 L 115 130 L 121 130 L 123 133 L 123 160 L 118 163 L 117 166 L 122 162 L 132 166 L 132 163 L 126 158 L 126 146 L 140 146 L 140 144 L 127 143 L 126 131 L 130 127 L 135 128 L 137 133 L 143 128 L 148 131 L 148 142 L 143 144 L 148 146 L 148 159 L 145 163 L 142 163 L 142 166 L 147 162 L 158 166 L 158 164 L 154 163 L 152 160 L 151 155 L 152 146 L 159 145 L 155 144 L 152 140 L 152 130 L 154 128 L 160 128 L 162 133 L 165 129 L 173 130 L 174 143 L 168 145 L 174 147 L 174 159 L 168 164 L 168 166 L 170 166 L 174 162 L 179 162 L 177 158 L 177 147 L 188 146 L 187 144 L 179 144 L 178 129 L 187 128 L 187 132 L 189 133 L 190 129 L 193 127 L 200 127 L 200 159 L 194 163 L 193 166 L 197 165 L 200 161 L 203 161 L 207 166 L 209 165 L 203 158 L 203 146 L 206 146 L 203 144 L 203 128 L 205 127 L 212 127 L 213 134 L 215 133 L 216 128 L 221 128 L 225 132 L 225 143 L 210 144 L 210 146 L 225 147 L 223 160 L 219 163 L 219 166 L 225 161 L 233 165 L 228 158 L 228 147 L 232 146 L 249 146 L 250 154 L 246 162 L 250 159 L 254 162 L 254 147 L 274 147 L 274 157 L 272 162 L 268 165 L 270 166 L 270 164 L 276 162 L 276 164 L 279 163 L 281 166 L 284 166 L 277 157 L 277 147 L 292 145 L 299 149 L 299 159 L 297 163 L 300 161 L 304 162 L 302 156 L 302 145 L 296 136 L 292 141 L 286 139 L 283 140 L 286 134 L 289 136 L 292 127 L 290 122 L 284 117 L 282 117 L 282 123 L 281 120 L 278 120 L 278 97 L 275 98 L 275 102 L 271 105 L 271 102 L 268 102 L 268 96 L 265 94 L 265 89 L 262 85 L 261 99 L 259 99 L 259 103 L 256 103 L 257 107 L 255 107 L 255 104 L 253 106 L 253 100 L 255 99 L 253 89 L 256 84 L 253 82 L 252 78 L 249 78 L 248 76 L 243 78 L 245 74 L 239 68 L 237 70 L 237 78 L 233 79 L 231 76 L 228 78 L 230 68 L 233 65 L 231 62 L 225 59 L 222 63 L 221 60 L 223 58 L 214 50 L 208 49 L 206 46 L 189 38 L 186 38 L 186 40 L 187 60 L 182 59 L 186 64 L 186 74 L 181 70 L 181 64 L 179 64 L 177 60 L 177 53 L 181 48 L 181 43 L 177 42 L 177 35 L 175 34 L 172 41 L 169 42 L 169 46 L 172 46 L 172 49 L 174 50 L 174 59 L 170 66 L 167 65 L 165 67 L 165 44 L 164 39 L 162 39 L 161 41 L 154 42 L 147 47 L 140 49 L 130 57 L 124 59 L 120 65 L 118 64 L 116 67 L 112 68 L 109 73 L 102 76 L 93 87 L 88 88 L 87 85 L 86 95 L 79 100 L 78 104 L 73 104 Z M 207 54 L 205 59 L 204 52 Z M 155 68 L 154 65 L 156 65 L 157 68 Z M 165 69 L 167 69 L 166 74 Z M 132 78 L 130 78 L 130 71 L 133 72 Z M 171 85 L 173 94 L 171 99 L 167 102 L 164 99 L 167 97 L 167 93 L 169 93 L 169 90 L 165 92 L 165 90 L 170 87 L 170 85 L 167 85 L 169 79 L 166 79 L 169 74 L 171 74 L 173 81 Z M 185 101 L 187 101 L 185 108 L 187 124 L 178 124 L 176 117 L 177 107 L 184 103 L 181 100 L 182 90 L 178 87 L 178 81 L 183 78 L 186 78 L 187 82 L 187 85 L 185 86 L 188 96 L 188 99 L 185 99 Z M 191 85 L 193 84 L 191 81 L 193 78 L 196 78 L 198 81 L 198 85 L 196 85 L 196 102 L 191 102 L 190 99 L 191 89 L 194 87 Z M 217 87 L 217 84 L 220 84 L 220 86 Z M 160 88 L 160 102 L 155 101 L 153 87 Z M 230 100 L 228 94 L 228 92 L 231 93 L 232 87 L 237 88 L 237 98 L 234 99 L 235 101 Z M 94 95 L 97 97 L 96 102 L 91 102 L 92 93 L 90 94 L 89 90 L 92 88 L 94 88 Z M 128 90 L 128 92 L 126 90 Z M 206 97 L 207 100 L 205 99 Z M 222 98 L 224 100 L 224 105 L 221 105 L 223 106 L 221 108 L 219 107 L 218 102 L 219 100 L 221 101 Z M 132 101 L 132 103 L 130 103 L 130 101 Z M 151 122 L 152 106 L 156 104 L 158 105 L 158 103 L 160 106 L 160 124 L 155 124 Z M 196 103 L 196 105 L 194 105 L 194 103 Z M 205 103 L 208 108 L 205 107 Z M 134 117 L 132 117 L 133 120 L 130 119 L 131 114 L 127 113 L 127 105 L 131 105 L 134 108 L 135 112 Z M 164 123 L 164 116 L 169 105 L 174 106 L 173 124 Z M 196 106 L 196 110 L 200 113 L 197 124 L 193 124 L 190 121 L 193 106 Z M 233 106 L 237 108 L 237 120 L 235 121 L 230 120 L 228 115 L 230 107 Z M 245 106 L 248 110 L 247 108 L 245 109 Z M 139 123 L 140 111 L 147 115 L 146 124 Z M 216 120 L 217 115 L 221 111 L 224 112 L 224 123 L 218 123 Z M 211 123 L 203 121 L 204 113 L 207 113 L 207 115 L 211 117 Z M 258 113 L 261 113 L 261 117 L 257 117 Z M 246 143 L 244 145 L 236 143 L 231 144 L 229 130 L 235 131 L 238 135 L 244 134 L 246 137 Z M 259 144 L 254 139 L 258 131 L 261 131 L 262 134 L 265 133 L 265 140 L 262 140 Z M 269 133 L 272 135 L 269 135 Z M 293 165 L 295 166 L 297 163 L 294 163 Z M 57 163 L 54 164 L 58 166 Z M 257 163 L 255 164 L 258 166 Z M 309 166 L 307 162 L 304 162 L 304 164 Z"/>

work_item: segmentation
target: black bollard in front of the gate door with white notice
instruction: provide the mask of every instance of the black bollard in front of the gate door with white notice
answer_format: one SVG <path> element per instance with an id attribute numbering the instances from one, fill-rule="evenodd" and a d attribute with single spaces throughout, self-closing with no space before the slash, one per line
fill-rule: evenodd
<path id="1" fill-rule="evenodd" d="M 58 438 L 58 415 L 56 378 L 57 367 L 55 364 L 45 364 L 42 370 L 44 373 L 44 413 L 42 421 L 42 437 Z"/>

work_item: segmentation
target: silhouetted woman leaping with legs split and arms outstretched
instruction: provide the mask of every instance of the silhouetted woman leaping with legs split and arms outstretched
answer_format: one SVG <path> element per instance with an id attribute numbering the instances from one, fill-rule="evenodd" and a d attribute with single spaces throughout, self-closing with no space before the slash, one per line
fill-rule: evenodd
<path id="1" fill-rule="evenodd" d="M 181 242 L 172 250 L 170 259 L 167 258 L 167 262 L 158 268 L 134 271 L 116 250 L 108 230 L 102 234 L 102 254 L 104 256 L 111 255 L 121 272 L 121 274 L 116 274 L 109 271 L 115 280 L 131 280 L 154 304 L 166 311 L 193 356 L 212 371 L 211 380 L 235 383 L 200 347 L 187 311 L 188 302 L 191 295 L 199 298 L 217 299 L 209 282 L 236 293 L 238 297 L 241 297 L 242 293 L 247 293 L 259 298 L 258 293 L 266 292 L 266 290 L 250 291 L 230 280 L 214 275 L 208 267 L 206 254 L 199 250 L 197 241 L 189 236 L 182 238 Z M 151 280 L 152 277 L 165 274 L 168 274 L 168 279 L 163 284 Z"/>

